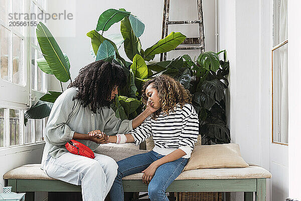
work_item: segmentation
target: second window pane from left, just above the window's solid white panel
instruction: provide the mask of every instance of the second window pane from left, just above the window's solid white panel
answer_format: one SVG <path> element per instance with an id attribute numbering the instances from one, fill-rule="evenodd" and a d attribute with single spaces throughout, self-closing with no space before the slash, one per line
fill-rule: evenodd
<path id="1" fill-rule="evenodd" d="M 13 34 L 13 82 L 24 85 L 23 39 Z"/>

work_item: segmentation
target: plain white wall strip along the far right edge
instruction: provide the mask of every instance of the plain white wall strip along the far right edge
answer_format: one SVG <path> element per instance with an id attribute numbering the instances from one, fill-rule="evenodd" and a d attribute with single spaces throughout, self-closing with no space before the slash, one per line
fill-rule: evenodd
<path id="1" fill-rule="evenodd" d="M 300 156 L 300 114 L 301 114 L 301 39 L 299 19 L 301 2 L 288 2 L 288 175 L 289 196 L 301 200 L 301 156 Z M 294 199 L 295 200 L 295 199 Z"/>

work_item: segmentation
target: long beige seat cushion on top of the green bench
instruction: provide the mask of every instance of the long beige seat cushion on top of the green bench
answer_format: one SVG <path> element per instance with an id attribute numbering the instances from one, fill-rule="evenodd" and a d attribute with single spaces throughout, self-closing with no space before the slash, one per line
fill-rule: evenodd
<path id="1" fill-rule="evenodd" d="M 95 153 L 112 157 L 116 161 L 123 158 L 145 153 L 145 150 L 134 150 L 124 147 L 99 146 Z M 122 154 L 121 154 L 122 153 Z M 28 164 L 17 167 L 7 172 L 4 179 L 48 179 L 55 180 L 44 173 L 41 164 Z M 143 173 L 132 174 L 124 177 L 126 180 L 142 179 Z M 241 178 L 270 178 L 271 174 L 262 167 L 250 165 L 245 168 L 217 168 L 217 169 L 195 169 L 182 172 L 176 180 L 183 179 L 241 179 Z"/>

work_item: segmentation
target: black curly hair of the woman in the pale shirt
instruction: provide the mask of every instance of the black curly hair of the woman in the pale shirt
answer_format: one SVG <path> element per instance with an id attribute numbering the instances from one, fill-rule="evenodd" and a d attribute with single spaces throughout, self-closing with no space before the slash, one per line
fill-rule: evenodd
<path id="1" fill-rule="evenodd" d="M 68 88 L 77 87 L 78 92 L 73 100 L 81 100 L 84 107 L 91 104 L 91 110 L 97 113 L 102 107 L 110 106 L 109 98 L 114 87 L 123 87 L 125 83 L 126 74 L 119 65 L 95 61 L 80 69 L 78 76 Z"/>

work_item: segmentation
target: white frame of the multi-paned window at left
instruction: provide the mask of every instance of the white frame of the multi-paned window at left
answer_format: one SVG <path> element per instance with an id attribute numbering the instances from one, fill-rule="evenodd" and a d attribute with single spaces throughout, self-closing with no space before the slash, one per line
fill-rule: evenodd
<path id="1" fill-rule="evenodd" d="M 38 8 L 40 8 L 44 13 L 46 13 L 46 7 L 47 7 L 47 1 L 48 0 L 43 0 L 44 2 L 44 8 L 42 7 L 42 5 L 39 4 L 39 1 L 36 0 L 21 0 L 23 1 L 23 11 L 24 13 L 30 13 L 31 12 L 31 4 L 32 2 L 34 2 L 36 4 L 36 12 L 38 11 Z M 10 12 L 12 13 L 12 8 L 13 8 L 13 2 L 10 1 Z M 34 20 L 32 20 L 34 21 Z M 37 23 L 39 22 L 39 20 L 36 20 Z M 45 24 L 45 22 L 43 22 Z M 5 25 L 4 22 L 2 20 L 0 20 L 0 24 L 2 26 L 4 26 L 5 28 L 8 28 L 8 25 Z M 32 89 L 32 80 L 31 80 L 31 49 L 32 47 L 34 47 L 35 49 L 39 49 L 38 48 L 38 43 L 37 44 L 32 44 L 32 37 L 31 37 L 31 28 L 30 27 L 25 27 L 24 28 L 24 36 L 21 35 L 19 32 L 17 32 L 16 30 L 14 30 L 13 28 L 9 29 L 12 31 L 11 34 L 11 39 L 10 39 L 10 43 L 12 42 L 12 36 L 13 34 L 16 34 L 17 36 L 22 36 L 21 38 L 24 40 L 23 42 L 23 67 L 24 67 L 24 73 L 25 73 L 25 77 L 24 77 L 24 86 L 20 85 L 20 84 L 16 84 L 10 81 L 6 81 L 3 80 L 0 77 L 0 93 L 1 94 L 5 94 L 5 95 L 1 95 L 0 96 L 0 108 L 4 108 L 5 110 L 5 135 L 4 135 L 4 143 L 5 143 L 5 147 L 0 147 L 0 150 L 4 150 L 4 149 L 8 149 L 8 148 L 12 148 L 12 147 L 19 147 L 19 146 L 25 146 L 25 145 L 29 145 L 29 144 L 39 144 L 41 143 L 41 141 L 37 141 L 35 139 L 35 121 L 33 120 L 33 124 L 32 124 L 32 128 L 31 128 L 31 135 L 32 135 L 32 142 L 25 144 L 25 126 L 24 126 L 24 112 L 29 109 L 32 105 L 34 105 L 37 101 L 38 98 L 43 96 L 48 89 L 48 86 L 50 86 L 50 79 L 48 79 L 48 75 L 46 73 L 43 72 L 43 80 L 44 80 L 44 90 L 43 91 L 38 91 L 38 90 L 34 90 Z M 11 45 L 11 44 L 10 44 Z M 34 45 L 34 46 L 33 46 Z M 11 57 L 12 57 L 12 48 L 10 48 L 10 52 L 11 52 Z M 36 63 L 36 57 L 35 57 L 35 63 Z M 12 64 L 10 64 L 9 61 L 9 69 L 10 67 L 12 67 Z M 37 71 L 38 71 L 38 66 L 37 64 L 35 64 L 36 68 L 36 75 L 37 75 Z M 9 70 L 10 71 L 10 70 Z M 38 79 L 38 76 L 35 76 Z M 38 80 L 36 80 L 35 82 L 38 82 Z M 19 134 L 19 138 L 20 138 L 20 144 L 19 145 L 13 145 L 10 146 L 10 117 L 9 117 L 9 111 L 10 109 L 14 109 L 14 110 L 21 110 L 21 114 L 20 114 L 20 134 Z M 44 140 L 44 136 L 43 136 L 43 130 L 45 128 L 46 125 L 46 119 L 42 119 L 42 140 Z"/>

